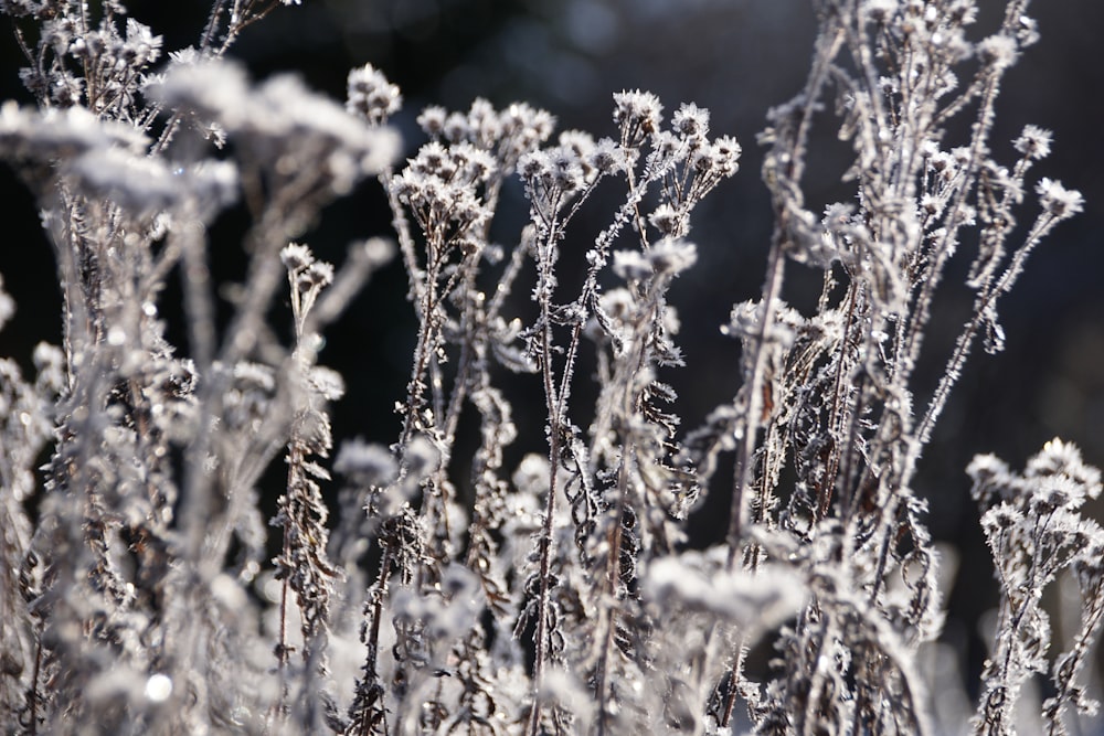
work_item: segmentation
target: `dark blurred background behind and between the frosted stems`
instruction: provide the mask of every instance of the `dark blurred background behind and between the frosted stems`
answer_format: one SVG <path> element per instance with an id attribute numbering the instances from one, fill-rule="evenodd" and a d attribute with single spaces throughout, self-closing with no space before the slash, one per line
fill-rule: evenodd
<path id="1" fill-rule="evenodd" d="M 991 15 L 999 9 L 989 6 L 1002 3 L 981 4 Z M 199 1 L 128 6 L 164 35 L 166 50 L 194 43 L 209 9 Z M 1026 124 L 1053 130 L 1053 153 L 1032 173 L 1081 190 L 1087 204 L 1084 214 L 1062 223 L 1043 243 L 1001 301 L 1006 350 L 995 356 L 975 351 L 922 460 L 917 490 L 931 502 L 932 530 L 959 551 L 946 637 L 968 652 L 972 668 L 980 650 L 968 642 L 978 616 L 994 605 L 995 584 L 963 469 L 974 454 L 989 451 L 1021 467 L 1054 436 L 1076 442 L 1089 462 L 1104 466 L 1104 63 L 1097 50 L 1104 4 L 1054 0 L 1034 3 L 1031 12 L 1042 40 L 1007 76 L 995 154 L 1010 162 L 1010 141 Z M 992 18 L 984 14 L 975 31 L 991 28 Z M 232 55 L 256 77 L 295 71 L 339 99 L 348 70 L 371 62 L 403 89 L 404 109 L 394 122 L 410 151 L 422 141 L 413 122 L 422 107 L 466 109 L 477 96 L 496 106 L 527 100 L 555 114 L 559 129 L 582 128 L 596 137 L 613 134 L 611 95 L 620 89 L 651 90 L 668 113 L 682 102 L 708 107 L 713 131 L 735 135 L 744 157 L 741 172 L 697 211 L 691 238 L 699 245 L 699 264 L 672 295 L 690 367 L 664 377 L 679 391 L 679 413 L 692 428 L 737 387 L 739 352 L 718 326 L 733 302 L 758 295 L 763 278 L 772 221 L 754 136 L 767 108 L 799 89 L 815 29 L 804 0 L 305 0 L 248 29 Z M 18 47 L 7 38 L 0 42 L 0 99 L 26 100 L 18 81 Z M 821 145 L 830 147 L 830 121 L 820 132 Z M 815 171 L 817 161 L 811 163 Z M 0 189 L 6 221 L 0 273 L 18 303 L 15 318 L 0 333 L 0 354 L 28 364 L 36 341 L 59 339 L 60 299 L 32 199 L 8 169 L 0 170 Z M 847 196 L 831 180 L 810 181 L 814 210 Z M 524 203 L 517 205 L 523 215 Z M 1021 220 L 1032 216 L 1023 211 Z M 212 252 L 227 278 L 244 268 L 233 255 L 243 226 L 241 214 L 230 213 L 213 231 Z M 587 231 L 584 225 L 577 234 L 586 237 L 599 226 Z M 350 241 L 388 232 L 379 188 L 370 182 L 325 212 L 304 239 L 321 257 L 340 260 Z M 503 228 L 501 237 L 509 236 Z M 941 375 L 973 301 L 968 291 L 953 286 L 956 278 L 962 281 L 965 266 L 953 268 L 921 366 L 925 387 Z M 818 289 L 816 274 L 799 266 L 790 274 L 793 290 L 786 296 L 792 301 L 800 302 L 803 288 Z M 322 360 L 341 370 L 349 384 L 335 407 L 339 437 L 388 442 L 397 434 L 392 406 L 403 397 L 414 326 L 404 294 L 396 264 L 328 334 Z M 926 405 L 926 396 L 920 395 L 917 404 Z M 526 407 L 517 410 L 523 422 Z M 696 544 L 720 537 L 710 520 L 724 518 L 728 500 L 723 492 L 716 497 L 715 506 L 707 506 L 692 523 Z M 1104 516 L 1098 509 L 1094 515 Z"/>

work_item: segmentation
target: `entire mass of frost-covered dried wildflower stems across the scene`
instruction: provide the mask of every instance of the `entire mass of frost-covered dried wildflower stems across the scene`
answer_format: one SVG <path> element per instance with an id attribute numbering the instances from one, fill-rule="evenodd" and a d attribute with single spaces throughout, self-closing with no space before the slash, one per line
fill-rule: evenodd
<path id="1" fill-rule="evenodd" d="M 396 168 L 402 96 L 378 70 L 350 73 L 342 106 L 224 58 L 277 4 L 217 0 L 197 45 L 155 67 L 160 36 L 117 0 L 0 2 L 38 103 L 0 108 L 0 156 L 39 200 L 64 298 L 63 344 L 35 350 L 35 378 L 0 361 L 4 729 L 965 725 L 933 723 L 921 666 L 943 607 L 916 468 L 974 343 L 1001 346 L 1000 297 L 1082 207 L 1029 180 L 1047 131 L 1028 126 L 1007 152 L 990 140 L 1001 77 L 1037 38 L 1027 1 L 978 41 L 972 0 L 814 3 L 805 88 L 760 136 L 775 221 L 763 292 L 723 327 L 742 383 L 690 431 L 665 381 L 687 369 L 670 289 L 704 247 L 689 239 L 696 206 L 741 153 L 709 111 L 683 103 L 665 120 L 658 98 L 625 90 L 595 139 L 556 135 L 524 104 L 428 107 L 428 141 Z M 813 204 L 810 132 L 828 103 L 854 193 Z M 395 248 L 359 243 L 333 266 L 296 239 L 368 177 L 418 327 L 395 441 L 340 441 L 338 488 L 329 404 L 344 386 L 318 363 L 321 334 Z M 507 186 L 527 222 L 492 237 Z M 1018 228 L 1032 189 L 1041 206 Z M 208 227 L 238 199 L 250 265 L 223 323 Z M 599 201 L 614 205 L 587 233 L 580 213 Z M 585 254 L 580 273 L 565 245 Z M 917 396 L 962 250 L 974 309 Z M 822 273 L 807 312 L 784 301 L 795 263 Z M 173 278 L 181 345 L 163 321 Z M 0 328 L 13 309 L 0 282 Z M 541 407 L 537 437 L 514 420 L 518 380 L 540 397 L 521 407 Z M 477 447 L 458 458 L 465 415 Z M 684 522 L 725 490 L 723 452 L 726 540 L 692 551 Z M 280 454 L 269 540 L 258 486 Z M 1002 591 L 974 729 L 1013 732 L 1025 683 L 1049 666 L 1042 591 L 1069 569 L 1082 628 L 1041 705 L 1065 733 L 1069 706 L 1092 710 L 1078 676 L 1104 614 L 1102 534 L 1078 508 L 1100 473 L 1059 441 L 1022 474 L 994 458 L 969 472 Z M 776 659 L 755 682 L 764 640 Z"/>

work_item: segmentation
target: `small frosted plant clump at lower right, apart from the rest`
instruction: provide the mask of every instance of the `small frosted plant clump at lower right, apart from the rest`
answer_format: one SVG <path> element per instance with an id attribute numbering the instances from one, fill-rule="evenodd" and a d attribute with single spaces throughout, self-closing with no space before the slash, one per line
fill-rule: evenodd
<path id="1" fill-rule="evenodd" d="M 1050 670 L 1054 695 L 1042 704 L 1047 733 L 1068 734 L 1068 706 L 1090 715 L 1098 708 L 1075 680 L 1104 617 L 1104 531 L 1079 513 L 1087 499 L 1101 493 L 1100 470 L 1086 466 L 1078 448 L 1054 439 L 1028 461 L 1022 474 L 991 455 L 974 458 L 967 472 L 1002 594 L 974 730 L 1016 733 L 1023 683 L 1032 673 Z M 1042 597 L 1065 569 L 1078 585 L 1081 630 L 1051 668 L 1051 626 Z"/>

